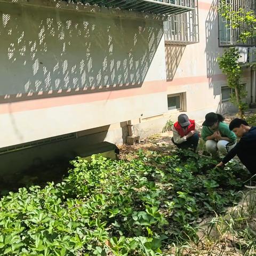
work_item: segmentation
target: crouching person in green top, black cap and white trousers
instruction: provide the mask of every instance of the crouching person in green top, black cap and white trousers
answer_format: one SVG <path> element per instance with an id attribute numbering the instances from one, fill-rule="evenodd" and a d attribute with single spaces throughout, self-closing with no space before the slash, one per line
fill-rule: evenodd
<path id="1" fill-rule="evenodd" d="M 229 130 L 224 123 L 224 117 L 216 113 L 208 113 L 205 116 L 202 128 L 202 138 L 205 141 L 206 150 L 213 157 L 218 157 L 219 153 L 227 155 L 229 150 L 236 145 L 236 134 Z"/>

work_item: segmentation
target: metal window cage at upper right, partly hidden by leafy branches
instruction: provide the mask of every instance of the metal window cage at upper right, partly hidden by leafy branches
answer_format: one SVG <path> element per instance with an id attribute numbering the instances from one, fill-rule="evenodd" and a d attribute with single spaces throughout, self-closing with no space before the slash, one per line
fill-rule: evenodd
<path id="1" fill-rule="evenodd" d="M 255 0 L 226 0 L 226 4 L 230 4 L 233 11 L 239 11 L 242 8 L 245 11 L 253 11 L 256 14 Z M 251 38 L 247 42 L 239 40 L 239 35 L 246 27 L 232 28 L 230 21 L 219 15 L 219 45 L 220 46 L 255 46 L 256 38 Z"/>

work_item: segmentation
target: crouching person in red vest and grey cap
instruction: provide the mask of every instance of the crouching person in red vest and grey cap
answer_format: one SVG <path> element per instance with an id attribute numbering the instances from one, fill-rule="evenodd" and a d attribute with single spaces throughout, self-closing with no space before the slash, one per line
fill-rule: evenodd
<path id="1" fill-rule="evenodd" d="M 178 148 L 192 148 L 196 152 L 198 140 L 201 136 L 198 132 L 199 127 L 195 120 L 189 119 L 186 114 L 179 115 L 178 122 L 172 126 L 172 142 Z"/>

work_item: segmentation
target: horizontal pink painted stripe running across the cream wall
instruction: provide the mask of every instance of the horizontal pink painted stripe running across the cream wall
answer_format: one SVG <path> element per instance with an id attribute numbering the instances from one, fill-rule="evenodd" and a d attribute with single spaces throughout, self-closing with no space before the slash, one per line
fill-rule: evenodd
<path id="1" fill-rule="evenodd" d="M 250 73 L 246 73 L 245 76 L 250 76 Z M 0 104 L 0 114 L 15 113 L 21 111 L 29 111 L 35 109 L 53 108 L 68 105 L 77 105 L 94 101 L 107 101 L 126 97 L 134 97 L 137 95 L 167 92 L 168 86 L 174 85 L 189 85 L 206 83 L 217 81 L 226 81 L 226 76 L 223 74 L 213 75 L 209 78 L 206 76 L 195 77 L 181 77 L 174 78 L 173 81 L 150 81 L 144 82 L 141 87 L 132 89 L 122 89 L 109 92 L 95 92 L 76 95 L 67 95 L 65 97 L 51 97 L 34 100 L 24 100 L 18 102 L 6 102 Z M 125 87 L 125 85 L 124 85 Z M 68 93 L 67 93 L 68 94 Z"/>

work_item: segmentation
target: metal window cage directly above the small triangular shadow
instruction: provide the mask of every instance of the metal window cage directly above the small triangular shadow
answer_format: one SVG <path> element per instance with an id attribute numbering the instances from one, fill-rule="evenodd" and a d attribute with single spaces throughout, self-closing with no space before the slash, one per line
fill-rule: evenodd
<path id="1" fill-rule="evenodd" d="M 169 15 L 164 21 L 165 44 L 187 45 L 199 42 L 198 7 L 186 13 Z"/>

